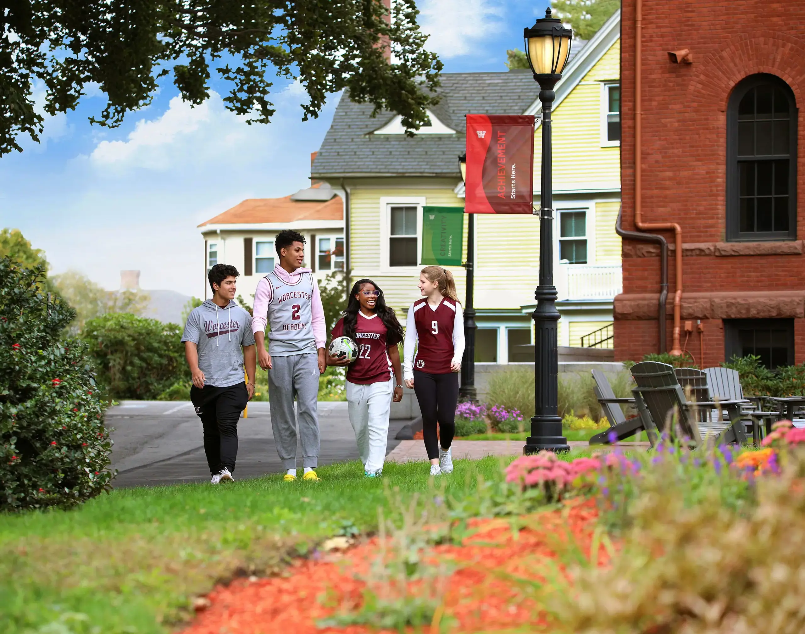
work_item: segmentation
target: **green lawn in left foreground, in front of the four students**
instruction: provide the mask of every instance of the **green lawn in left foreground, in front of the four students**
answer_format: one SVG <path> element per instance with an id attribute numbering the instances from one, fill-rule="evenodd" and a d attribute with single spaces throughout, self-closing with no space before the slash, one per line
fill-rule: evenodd
<path id="1" fill-rule="evenodd" d="M 434 486 L 467 496 L 477 474 L 502 479 L 503 464 L 456 460 Z M 376 480 L 359 463 L 319 475 L 120 489 L 68 512 L 0 515 L 0 632 L 169 632 L 217 580 L 279 570 L 325 537 L 373 531 L 386 489 L 403 500 L 432 491 L 423 463 L 387 463 Z"/>

